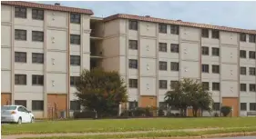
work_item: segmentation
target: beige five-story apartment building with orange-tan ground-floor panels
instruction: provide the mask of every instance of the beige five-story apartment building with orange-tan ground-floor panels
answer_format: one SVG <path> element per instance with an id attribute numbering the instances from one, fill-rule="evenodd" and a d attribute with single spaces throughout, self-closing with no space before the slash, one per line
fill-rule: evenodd
<path id="1" fill-rule="evenodd" d="M 76 77 L 100 66 L 126 80 L 128 107 L 162 106 L 171 84 L 189 77 L 212 92 L 216 111 L 256 111 L 256 30 L 148 15 L 97 18 L 61 5 L 1 7 L 2 104 L 24 104 L 42 117 L 55 105 L 76 110 Z"/>

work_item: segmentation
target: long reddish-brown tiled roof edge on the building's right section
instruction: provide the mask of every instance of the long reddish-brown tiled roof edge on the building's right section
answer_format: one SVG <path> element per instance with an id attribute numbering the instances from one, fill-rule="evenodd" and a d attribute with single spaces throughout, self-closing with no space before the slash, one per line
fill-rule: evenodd
<path id="1" fill-rule="evenodd" d="M 146 21 L 146 22 L 152 22 L 152 23 L 184 25 L 184 26 L 191 26 L 191 27 L 198 27 L 198 28 L 208 28 L 208 29 L 216 29 L 221 31 L 256 35 L 256 30 L 233 28 L 233 27 L 219 26 L 219 25 L 197 24 L 197 23 L 191 23 L 191 22 L 183 22 L 183 21 L 177 21 L 177 20 L 161 19 L 156 17 L 147 17 L 147 16 L 139 16 L 139 15 L 127 15 L 127 14 L 110 15 L 104 18 L 104 22 L 108 22 L 115 19 L 131 19 L 131 20 Z"/>

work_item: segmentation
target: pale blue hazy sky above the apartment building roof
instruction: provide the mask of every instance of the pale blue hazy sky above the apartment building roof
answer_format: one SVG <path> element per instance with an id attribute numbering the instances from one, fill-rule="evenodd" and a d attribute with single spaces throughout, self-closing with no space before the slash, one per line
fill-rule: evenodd
<path id="1" fill-rule="evenodd" d="M 175 1 L 47 1 L 43 4 L 87 8 L 94 16 L 115 14 L 150 15 L 210 25 L 256 30 L 256 1 L 251 2 L 175 2 Z"/>

